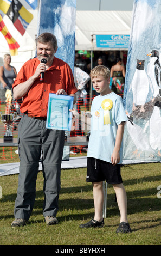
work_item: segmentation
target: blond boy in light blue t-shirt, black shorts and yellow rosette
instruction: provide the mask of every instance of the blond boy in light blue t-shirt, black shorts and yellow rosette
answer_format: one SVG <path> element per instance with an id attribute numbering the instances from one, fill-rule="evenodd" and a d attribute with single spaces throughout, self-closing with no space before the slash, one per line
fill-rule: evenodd
<path id="1" fill-rule="evenodd" d="M 91 81 L 99 96 L 94 97 L 91 106 L 91 135 L 87 153 L 87 182 L 93 184 L 94 218 L 81 224 L 80 228 L 103 227 L 104 189 L 103 181 L 112 184 L 120 210 L 120 225 L 117 233 L 131 232 L 127 220 L 127 198 L 120 174 L 123 160 L 124 123 L 127 120 L 123 100 L 109 88 L 110 70 L 103 65 L 96 66 L 90 73 Z M 79 118 L 78 112 L 72 110 Z"/>

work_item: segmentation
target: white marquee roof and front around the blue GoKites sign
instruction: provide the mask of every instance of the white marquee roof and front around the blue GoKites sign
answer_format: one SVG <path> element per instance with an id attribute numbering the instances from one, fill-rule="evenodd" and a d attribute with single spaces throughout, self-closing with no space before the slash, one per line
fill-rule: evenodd
<path id="1" fill-rule="evenodd" d="M 131 19 L 132 11 L 76 11 L 75 50 L 120 50 L 96 47 L 95 35 L 130 35 Z"/>

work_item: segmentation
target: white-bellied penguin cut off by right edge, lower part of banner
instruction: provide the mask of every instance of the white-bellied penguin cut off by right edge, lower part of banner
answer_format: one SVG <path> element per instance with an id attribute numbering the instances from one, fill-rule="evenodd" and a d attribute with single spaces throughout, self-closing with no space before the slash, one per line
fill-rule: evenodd
<path id="1" fill-rule="evenodd" d="M 160 117 L 161 103 L 157 101 L 154 105 L 153 113 L 149 121 L 150 136 L 149 141 L 152 149 L 158 150 L 158 156 L 161 156 L 161 117 Z"/>

